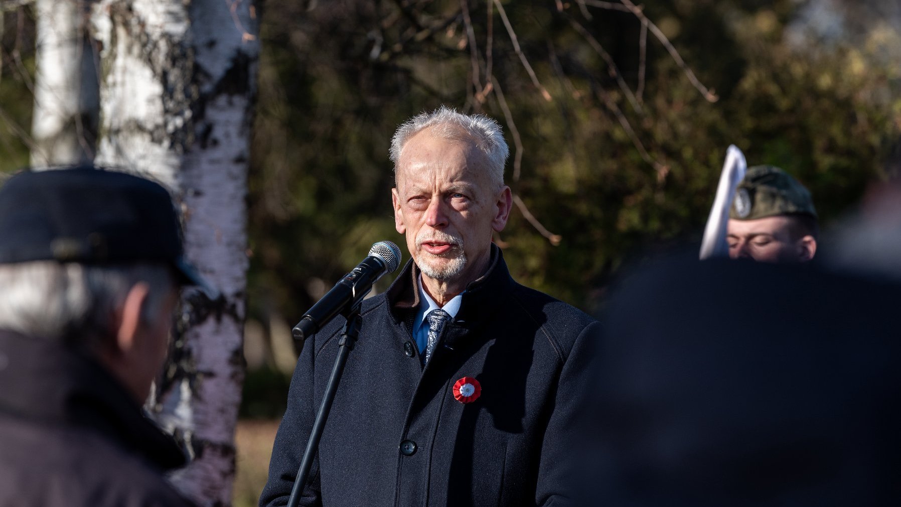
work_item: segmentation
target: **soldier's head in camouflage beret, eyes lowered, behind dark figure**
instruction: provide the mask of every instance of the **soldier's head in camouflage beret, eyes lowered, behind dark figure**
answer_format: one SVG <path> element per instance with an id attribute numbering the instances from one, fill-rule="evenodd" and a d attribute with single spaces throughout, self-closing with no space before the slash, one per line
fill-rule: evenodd
<path id="1" fill-rule="evenodd" d="M 777 167 L 751 167 L 735 191 L 729 213 L 729 256 L 804 263 L 816 253 L 817 229 L 814 201 L 803 185 Z"/>

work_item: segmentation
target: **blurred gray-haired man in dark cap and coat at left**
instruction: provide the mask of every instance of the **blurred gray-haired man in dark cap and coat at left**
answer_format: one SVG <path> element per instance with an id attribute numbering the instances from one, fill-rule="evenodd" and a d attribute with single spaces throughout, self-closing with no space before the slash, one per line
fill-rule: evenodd
<path id="1" fill-rule="evenodd" d="M 93 167 L 6 181 L 0 505 L 189 505 L 162 476 L 185 456 L 141 404 L 195 282 L 157 183 Z"/>

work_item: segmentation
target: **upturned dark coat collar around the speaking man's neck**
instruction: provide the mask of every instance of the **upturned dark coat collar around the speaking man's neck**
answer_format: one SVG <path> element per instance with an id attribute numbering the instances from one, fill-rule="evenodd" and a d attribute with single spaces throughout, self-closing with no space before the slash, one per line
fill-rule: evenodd
<path id="1" fill-rule="evenodd" d="M 386 294 L 391 314 L 396 322 L 403 320 L 419 306 L 418 284 L 419 268 L 413 259 L 410 259 Z M 461 323 L 476 323 L 481 318 L 492 314 L 493 309 L 501 300 L 498 298 L 498 294 L 506 293 L 513 285 L 514 280 L 507 270 L 503 253 L 496 244 L 492 243 L 487 272 L 478 280 L 469 282 L 466 292 L 463 293 L 460 311 L 455 320 Z"/>

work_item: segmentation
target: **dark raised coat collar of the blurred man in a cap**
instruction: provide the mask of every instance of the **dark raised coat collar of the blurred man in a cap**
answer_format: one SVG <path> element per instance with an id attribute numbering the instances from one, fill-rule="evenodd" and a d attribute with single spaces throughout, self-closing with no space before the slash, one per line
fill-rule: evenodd
<path id="1" fill-rule="evenodd" d="M 0 413 L 94 429 L 163 470 L 185 465 L 175 441 L 144 417 L 112 374 L 47 339 L 0 330 Z"/>

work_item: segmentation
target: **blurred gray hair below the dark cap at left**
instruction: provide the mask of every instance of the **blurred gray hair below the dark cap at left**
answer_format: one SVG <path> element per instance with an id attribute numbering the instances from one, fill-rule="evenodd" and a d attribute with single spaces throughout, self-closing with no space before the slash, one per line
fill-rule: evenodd
<path id="1" fill-rule="evenodd" d="M 0 264 L 0 328 L 95 348 L 114 339 L 114 316 L 141 281 L 149 286 L 141 320 L 150 324 L 176 288 L 164 264 Z"/>

